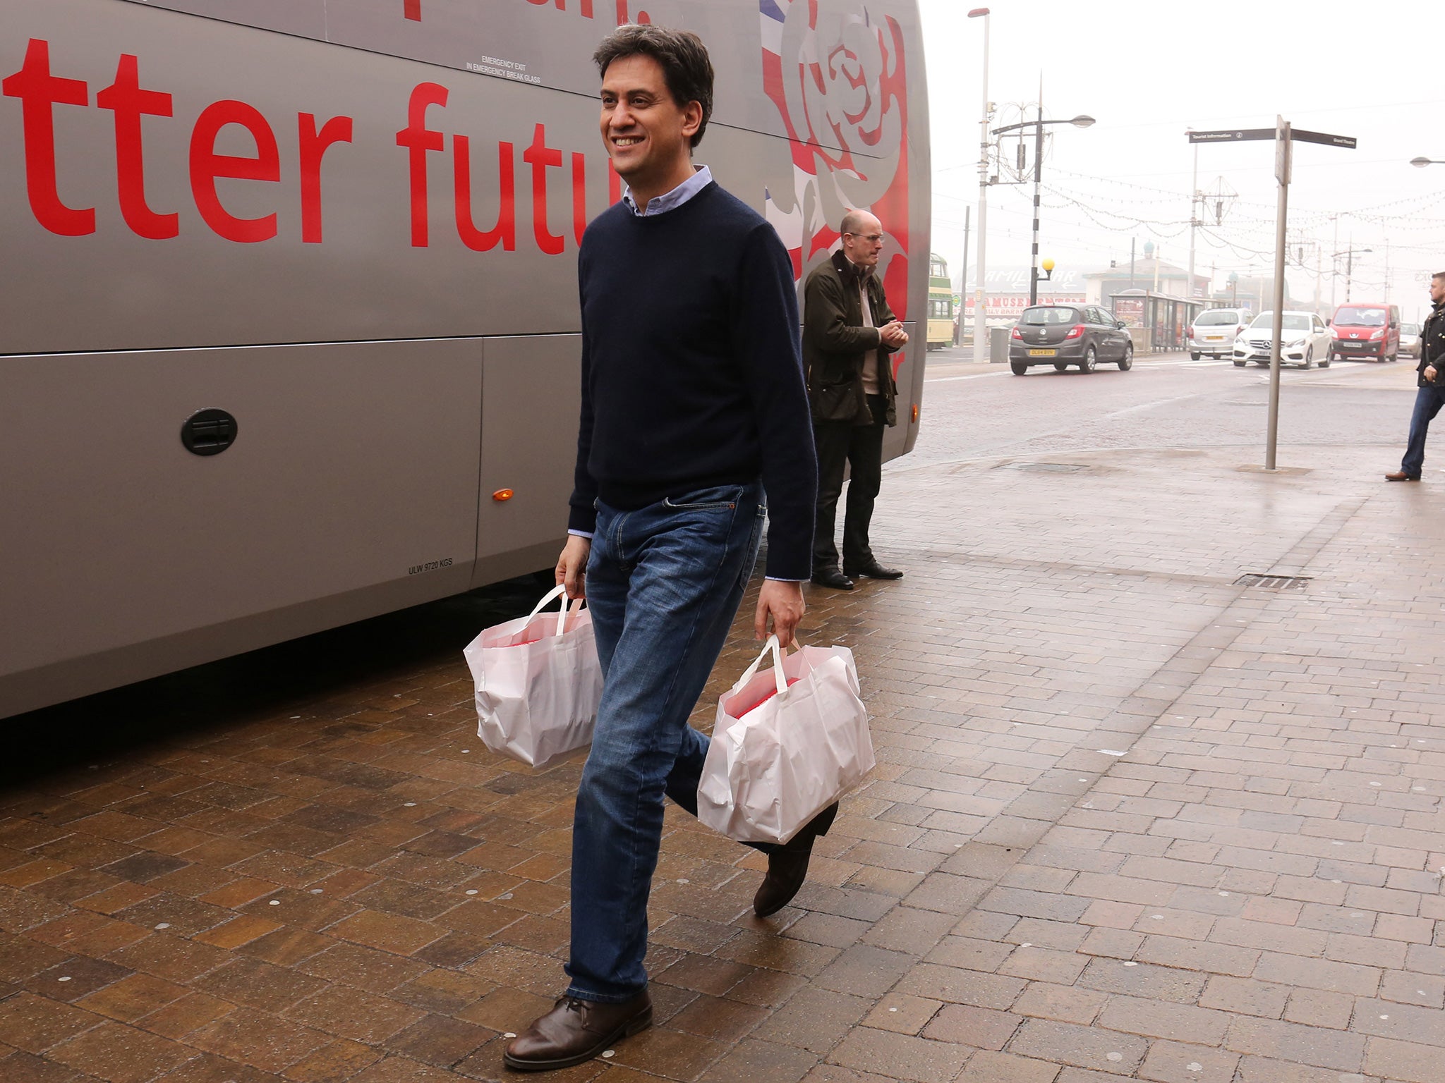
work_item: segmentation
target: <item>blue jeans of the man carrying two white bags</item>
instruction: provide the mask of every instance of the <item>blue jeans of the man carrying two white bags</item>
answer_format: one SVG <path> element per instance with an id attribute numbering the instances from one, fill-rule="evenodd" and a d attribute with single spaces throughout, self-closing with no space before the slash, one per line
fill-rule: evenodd
<path id="1" fill-rule="evenodd" d="M 762 540 L 763 487 L 727 485 L 637 511 L 597 505 L 587 563 L 603 702 L 572 823 L 569 996 L 647 986 L 647 895 L 663 796 L 696 816 L 708 738 L 688 725 Z"/>

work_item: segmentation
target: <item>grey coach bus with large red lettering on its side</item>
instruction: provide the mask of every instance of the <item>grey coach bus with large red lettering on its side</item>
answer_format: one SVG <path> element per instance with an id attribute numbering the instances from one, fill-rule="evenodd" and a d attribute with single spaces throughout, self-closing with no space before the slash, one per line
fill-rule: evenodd
<path id="1" fill-rule="evenodd" d="M 707 42 L 799 279 L 883 221 L 912 331 L 915 0 L 0 0 L 0 716 L 551 566 L 626 22 Z"/>

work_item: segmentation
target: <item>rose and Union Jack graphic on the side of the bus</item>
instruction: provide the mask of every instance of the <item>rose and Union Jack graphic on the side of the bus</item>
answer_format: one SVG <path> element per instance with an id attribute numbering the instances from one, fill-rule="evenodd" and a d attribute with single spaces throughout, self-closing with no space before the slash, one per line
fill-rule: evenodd
<path id="1" fill-rule="evenodd" d="M 819 13 L 822 9 L 822 13 Z M 763 91 L 792 146 L 793 191 L 766 192 L 764 212 L 793 276 L 837 243 L 850 209 L 870 211 L 886 237 L 883 286 L 899 319 L 907 306 L 907 74 L 897 22 L 867 0 L 759 0 Z"/>

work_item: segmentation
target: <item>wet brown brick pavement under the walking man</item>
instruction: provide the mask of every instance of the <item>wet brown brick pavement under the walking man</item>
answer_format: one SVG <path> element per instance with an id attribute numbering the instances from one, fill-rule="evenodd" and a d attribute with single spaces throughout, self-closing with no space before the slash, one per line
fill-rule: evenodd
<path id="1" fill-rule="evenodd" d="M 805 621 L 876 773 L 766 921 L 669 814 L 659 1025 L 553 1077 L 1445 1079 L 1445 510 L 1311 455 L 894 464 L 909 578 Z M 578 765 L 486 754 L 470 693 L 448 651 L 0 793 L 0 1080 L 499 1077 L 564 985 Z"/>

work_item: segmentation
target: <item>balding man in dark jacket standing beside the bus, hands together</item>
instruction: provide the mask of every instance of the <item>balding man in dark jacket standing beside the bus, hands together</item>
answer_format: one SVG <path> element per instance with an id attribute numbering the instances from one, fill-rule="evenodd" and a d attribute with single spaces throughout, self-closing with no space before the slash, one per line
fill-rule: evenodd
<path id="1" fill-rule="evenodd" d="M 858 576 L 903 578 L 873 556 L 868 524 L 883 482 L 883 430 L 897 423 L 889 355 L 907 342 L 907 332 L 893 316 L 877 276 L 881 222 L 867 211 L 850 211 L 841 230 L 838 251 L 818 264 L 803 286 L 803 371 L 818 452 L 812 580 L 851 591 Z M 834 520 L 844 466 L 853 481 L 840 569 Z"/>

